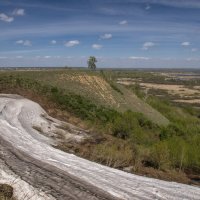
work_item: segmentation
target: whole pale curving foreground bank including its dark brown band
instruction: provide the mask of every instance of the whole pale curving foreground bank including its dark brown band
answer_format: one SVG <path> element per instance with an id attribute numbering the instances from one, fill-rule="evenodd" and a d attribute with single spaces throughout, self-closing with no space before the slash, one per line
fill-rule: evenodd
<path id="1" fill-rule="evenodd" d="M 0 95 L 0 183 L 24 200 L 199 199 L 200 188 L 128 174 L 62 152 L 41 137 L 63 122 L 36 103 Z M 48 134 L 47 134 L 48 135 Z"/>

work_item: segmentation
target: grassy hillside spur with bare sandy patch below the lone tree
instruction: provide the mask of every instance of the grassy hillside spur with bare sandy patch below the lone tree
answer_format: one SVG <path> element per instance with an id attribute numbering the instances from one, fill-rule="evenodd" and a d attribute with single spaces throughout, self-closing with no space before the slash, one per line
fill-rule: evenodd
<path id="1" fill-rule="evenodd" d="M 52 71 L 16 71 L 5 74 L 18 75 L 35 79 L 44 84 L 51 84 L 66 91 L 85 96 L 94 103 L 114 108 L 118 111 L 132 110 L 143 113 L 158 125 L 167 125 L 169 121 L 161 113 L 139 99 L 121 85 L 111 85 L 100 72 L 86 70 Z M 112 83 L 114 84 L 114 83 Z M 119 91 L 116 90 L 119 88 Z"/>

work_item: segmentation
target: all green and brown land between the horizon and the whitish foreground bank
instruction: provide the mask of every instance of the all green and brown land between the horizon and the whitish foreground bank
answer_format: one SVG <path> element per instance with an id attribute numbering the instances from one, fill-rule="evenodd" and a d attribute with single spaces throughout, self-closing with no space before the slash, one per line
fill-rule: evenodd
<path id="1" fill-rule="evenodd" d="M 57 146 L 63 151 L 128 172 L 199 184 L 197 75 L 185 71 L 3 70 L 0 91 L 32 99 L 51 116 L 90 132 L 92 140 L 83 144 L 63 141 Z"/>

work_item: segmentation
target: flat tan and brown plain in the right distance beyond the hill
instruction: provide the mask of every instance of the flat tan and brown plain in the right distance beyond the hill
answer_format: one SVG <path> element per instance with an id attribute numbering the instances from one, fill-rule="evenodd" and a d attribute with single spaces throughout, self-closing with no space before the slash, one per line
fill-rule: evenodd
<path id="1" fill-rule="evenodd" d="M 194 72 L 151 72 L 147 74 L 143 78 L 120 77 L 117 83 L 125 86 L 138 85 L 146 95 L 154 92 L 156 96 L 168 97 L 174 102 L 199 104 L 200 74 Z"/>

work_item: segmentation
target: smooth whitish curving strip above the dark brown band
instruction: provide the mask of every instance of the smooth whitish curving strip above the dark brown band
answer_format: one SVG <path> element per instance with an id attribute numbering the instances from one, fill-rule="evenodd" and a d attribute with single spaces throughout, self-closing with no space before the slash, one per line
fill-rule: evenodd
<path id="1" fill-rule="evenodd" d="M 16 95 L 0 95 L 0 136 L 33 158 L 121 199 L 200 199 L 198 187 L 129 174 L 53 148 L 50 145 L 52 141 L 32 128 L 33 125 L 41 125 L 51 131 L 54 122 L 49 124 L 42 117 L 44 114 L 37 103 Z"/>

